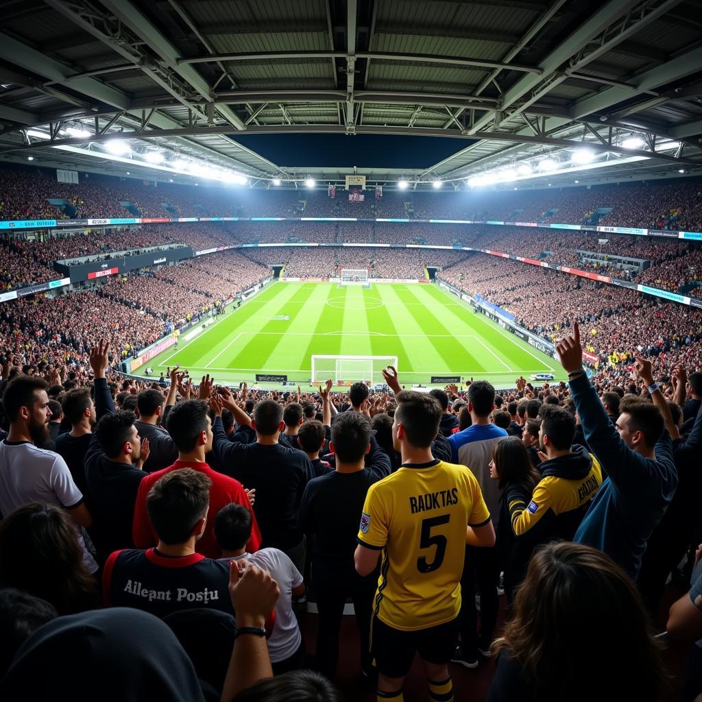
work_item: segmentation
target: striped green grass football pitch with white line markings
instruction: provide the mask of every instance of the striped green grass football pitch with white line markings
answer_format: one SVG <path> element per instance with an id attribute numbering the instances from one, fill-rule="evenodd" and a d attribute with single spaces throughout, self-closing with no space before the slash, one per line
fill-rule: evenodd
<path id="1" fill-rule="evenodd" d="M 554 359 L 435 285 L 275 282 L 187 336 L 147 365 L 158 374 L 178 364 L 218 383 L 279 373 L 307 385 L 312 355 L 390 355 L 405 384 L 440 374 L 482 378 L 498 388 L 513 387 L 519 374 L 553 371 L 565 378 Z"/>

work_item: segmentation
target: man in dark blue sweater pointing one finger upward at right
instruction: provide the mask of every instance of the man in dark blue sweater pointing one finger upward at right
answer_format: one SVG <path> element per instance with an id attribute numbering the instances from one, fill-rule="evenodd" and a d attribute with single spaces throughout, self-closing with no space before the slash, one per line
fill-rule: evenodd
<path id="1" fill-rule="evenodd" d="M 669 414 L 670 409 L 662 393 L 658 398 L 662 400 L 660 410 L 639 398 L 627 399 L 613 425 L 583 371 L 578 322 L 574 323 L 573 335 L 562 339 L 556 351 L 568 373 L 585 440 L 607 473 L 574 541 L 607 553 L 636 580 L 647 539 L 661 521 L 677 486 L 673 444 L 663 428 L 661 414 L 666 410 Z M 661 392 L 650 364 L 637 359 L 636 366 L 641 369 L 649 394 Z"/>

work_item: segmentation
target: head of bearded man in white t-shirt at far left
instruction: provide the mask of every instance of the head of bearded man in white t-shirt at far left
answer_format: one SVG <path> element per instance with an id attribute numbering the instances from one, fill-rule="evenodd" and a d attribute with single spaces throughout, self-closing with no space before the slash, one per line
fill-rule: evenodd
<path id="1" fill-rule="evenodd" d="M 15 376 L 3 393 L 3 408 L 12 428 L 32 438 L 34 444 L 48 440 L 48 385 L 36 376 Z"/>

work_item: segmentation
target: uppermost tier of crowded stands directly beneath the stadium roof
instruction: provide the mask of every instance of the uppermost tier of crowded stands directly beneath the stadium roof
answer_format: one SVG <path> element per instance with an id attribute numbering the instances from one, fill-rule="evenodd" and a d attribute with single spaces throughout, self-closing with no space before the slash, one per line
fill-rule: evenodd
<path id="1" fill-rule="evenodd" d="M 0 219 L 99 217 L 361 217 L 450 218 L 574 223 L 661 230 L 702 230 L 702 187 L 695 180 L 653 180 L 552 190 L 484 190 L 427 193 L 387 188 L 376 198 L 349 201 L 340 187 L 255 190 L 207 184 L 190 187 L 133 178 L 79 174 L 79 183 L 58 183 L 44 168 L 0 168 Z M 48 199 L 66 206 L 48 204 Z M 126 202 L 124 206 L 121 203 Z"/>

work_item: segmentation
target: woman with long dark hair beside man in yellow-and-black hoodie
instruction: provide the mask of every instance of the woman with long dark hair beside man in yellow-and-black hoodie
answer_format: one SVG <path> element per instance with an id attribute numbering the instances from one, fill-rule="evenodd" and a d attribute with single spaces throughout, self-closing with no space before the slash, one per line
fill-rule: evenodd
<path id="1" fill-rule="evenodd" d="M 527 508 L 534 486 L 541 476 L 531 465 L 522 439 L 508 437 L 495 444 L 490 461 L 490 477 L 499 481 L 499 487 L 503 491 L 497 527 L 497 550 L 505 574 L 505 595 L 508 602 L 512 602 L 514 589 L 527 572 L 535 542 L 529 535 L 515 536 L 510 512 L 517 508 Z"/>

